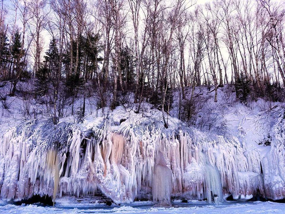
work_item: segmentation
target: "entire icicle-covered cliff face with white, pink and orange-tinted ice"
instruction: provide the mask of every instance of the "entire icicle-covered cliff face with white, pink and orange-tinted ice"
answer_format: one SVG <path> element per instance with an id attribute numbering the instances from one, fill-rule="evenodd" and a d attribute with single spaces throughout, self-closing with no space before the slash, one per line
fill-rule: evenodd
<path id="1" fill-rule="evenodd" d="M 98 118 L 88 125 L 28 121 L 10 128 L 0 139 L 1 197 L 103 193 L 115 203 L 138 197 L 169 202 L 171 196 L 218 203 L 223 194 L 285 198 L 284 114 L 265 149 L 244 146 L 250 128 L 241 137 L 167 131 L 131 118 L 111 124 Z"/>

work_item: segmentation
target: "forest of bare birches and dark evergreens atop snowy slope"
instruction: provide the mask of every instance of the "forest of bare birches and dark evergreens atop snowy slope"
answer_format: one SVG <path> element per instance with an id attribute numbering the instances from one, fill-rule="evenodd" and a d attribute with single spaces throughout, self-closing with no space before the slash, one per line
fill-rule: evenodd
<path id="1" fill-rule="evenodd" d="M 284 2 L 272 0 L 2 0 L 2 116 L 14 96 L 23 119 L 54 124 L 84 118 L 86 102 L 137 113 L 148 102 L 167 128 L 174 99 L 178 119 L 194 123 L 201 86 L 214 102 L 229 99 L 221 90 L 246 106 L 284 102 L 284 21 Z"/>

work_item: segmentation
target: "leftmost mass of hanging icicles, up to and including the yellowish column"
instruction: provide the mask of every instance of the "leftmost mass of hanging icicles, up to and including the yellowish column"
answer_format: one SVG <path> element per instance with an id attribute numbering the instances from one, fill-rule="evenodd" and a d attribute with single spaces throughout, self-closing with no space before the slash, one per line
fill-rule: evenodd
<path id="1" fill-rule="evenodd" d="M 53 132 L 48 136 L 37 121 L 28 121 L 3 135 L 0 142 L 0 166 L 4 166 L 0 178 L 3 179 L 0 186 L 3 199 L 19 201 L 36 194 L 57 195 L 58 154 L 49 151 L 54 150 L 56 142 L 66 144 L 70 126 L 61 124 L 60 131 L 56 129 L 56 136 L 52 135 Z M 63 127 L 64 130 L 60 129 Z"/>

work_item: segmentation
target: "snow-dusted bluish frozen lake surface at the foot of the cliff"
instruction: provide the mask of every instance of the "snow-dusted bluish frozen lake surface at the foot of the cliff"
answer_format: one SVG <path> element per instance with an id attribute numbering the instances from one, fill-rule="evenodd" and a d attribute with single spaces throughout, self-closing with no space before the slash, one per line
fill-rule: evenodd
<path id="1" fill-rule="evenodd" d="M 285 204 L 276 202 L 224 202 L 222 204 L 207 204 L 205 202 L 191 201 L 181 203 L 175 201 L 170 207 L 160 207 L 152 202 L 134 202 L 128 205 L 100 204 L 96 202 L 75 202 L 72 199 L 59 199 L 54 207 L 43 204 L 16 205 L 7 202 L 0 202 L 0 213 L 203 213 L 203 214 L 284 214 Z"/>

